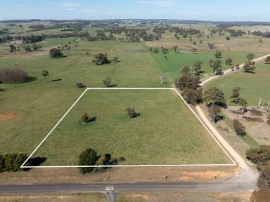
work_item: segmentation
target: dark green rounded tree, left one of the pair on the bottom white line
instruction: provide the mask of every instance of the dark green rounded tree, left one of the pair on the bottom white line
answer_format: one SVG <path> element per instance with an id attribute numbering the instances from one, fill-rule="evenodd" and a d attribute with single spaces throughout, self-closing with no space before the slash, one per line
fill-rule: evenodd
<path id="1" fill-rule="evenodd" d="M 94 149 L 86 149 L 79 154 L 79 166 L 95 166 L 98 161 L 98 155 Z M 79 173 L 91 173 L 94 168 L 79 168 Z"/>

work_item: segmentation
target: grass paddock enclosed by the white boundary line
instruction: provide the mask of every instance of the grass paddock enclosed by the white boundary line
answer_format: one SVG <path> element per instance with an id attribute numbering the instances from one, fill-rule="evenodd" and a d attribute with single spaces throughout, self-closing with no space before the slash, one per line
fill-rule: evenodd
<path id="1" fill-rule="evenodd" d="M 129 118 L 127 107 L 141 116 Z M 82 123 L 84 112 L 96 121 Z M 34 156 L 46 157 L 44 166 L 77 165 L 87 148 L 125 165 L 230 163 L 174 90 L 88 90 Z"/>

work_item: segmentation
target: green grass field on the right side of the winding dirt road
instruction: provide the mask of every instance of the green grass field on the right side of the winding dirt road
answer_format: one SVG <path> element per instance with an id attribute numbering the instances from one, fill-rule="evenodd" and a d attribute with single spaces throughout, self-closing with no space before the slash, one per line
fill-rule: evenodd
<path id="1" fill-rule="evenodd" d="M 215 86 L 222 90 L 228 100 L 228 105 L 233 105 L 230 102 L 231 90 L 235 87 L 240 87 L 240 95 L 248 101 L 248 105 L 257 106 L 259 98 L 264 102 L 270 101 L 270 65 L 260 62 L 256 65 L 256 73 L 243 73 L 243 70 L 213 81 L 208 86 Z"/>

